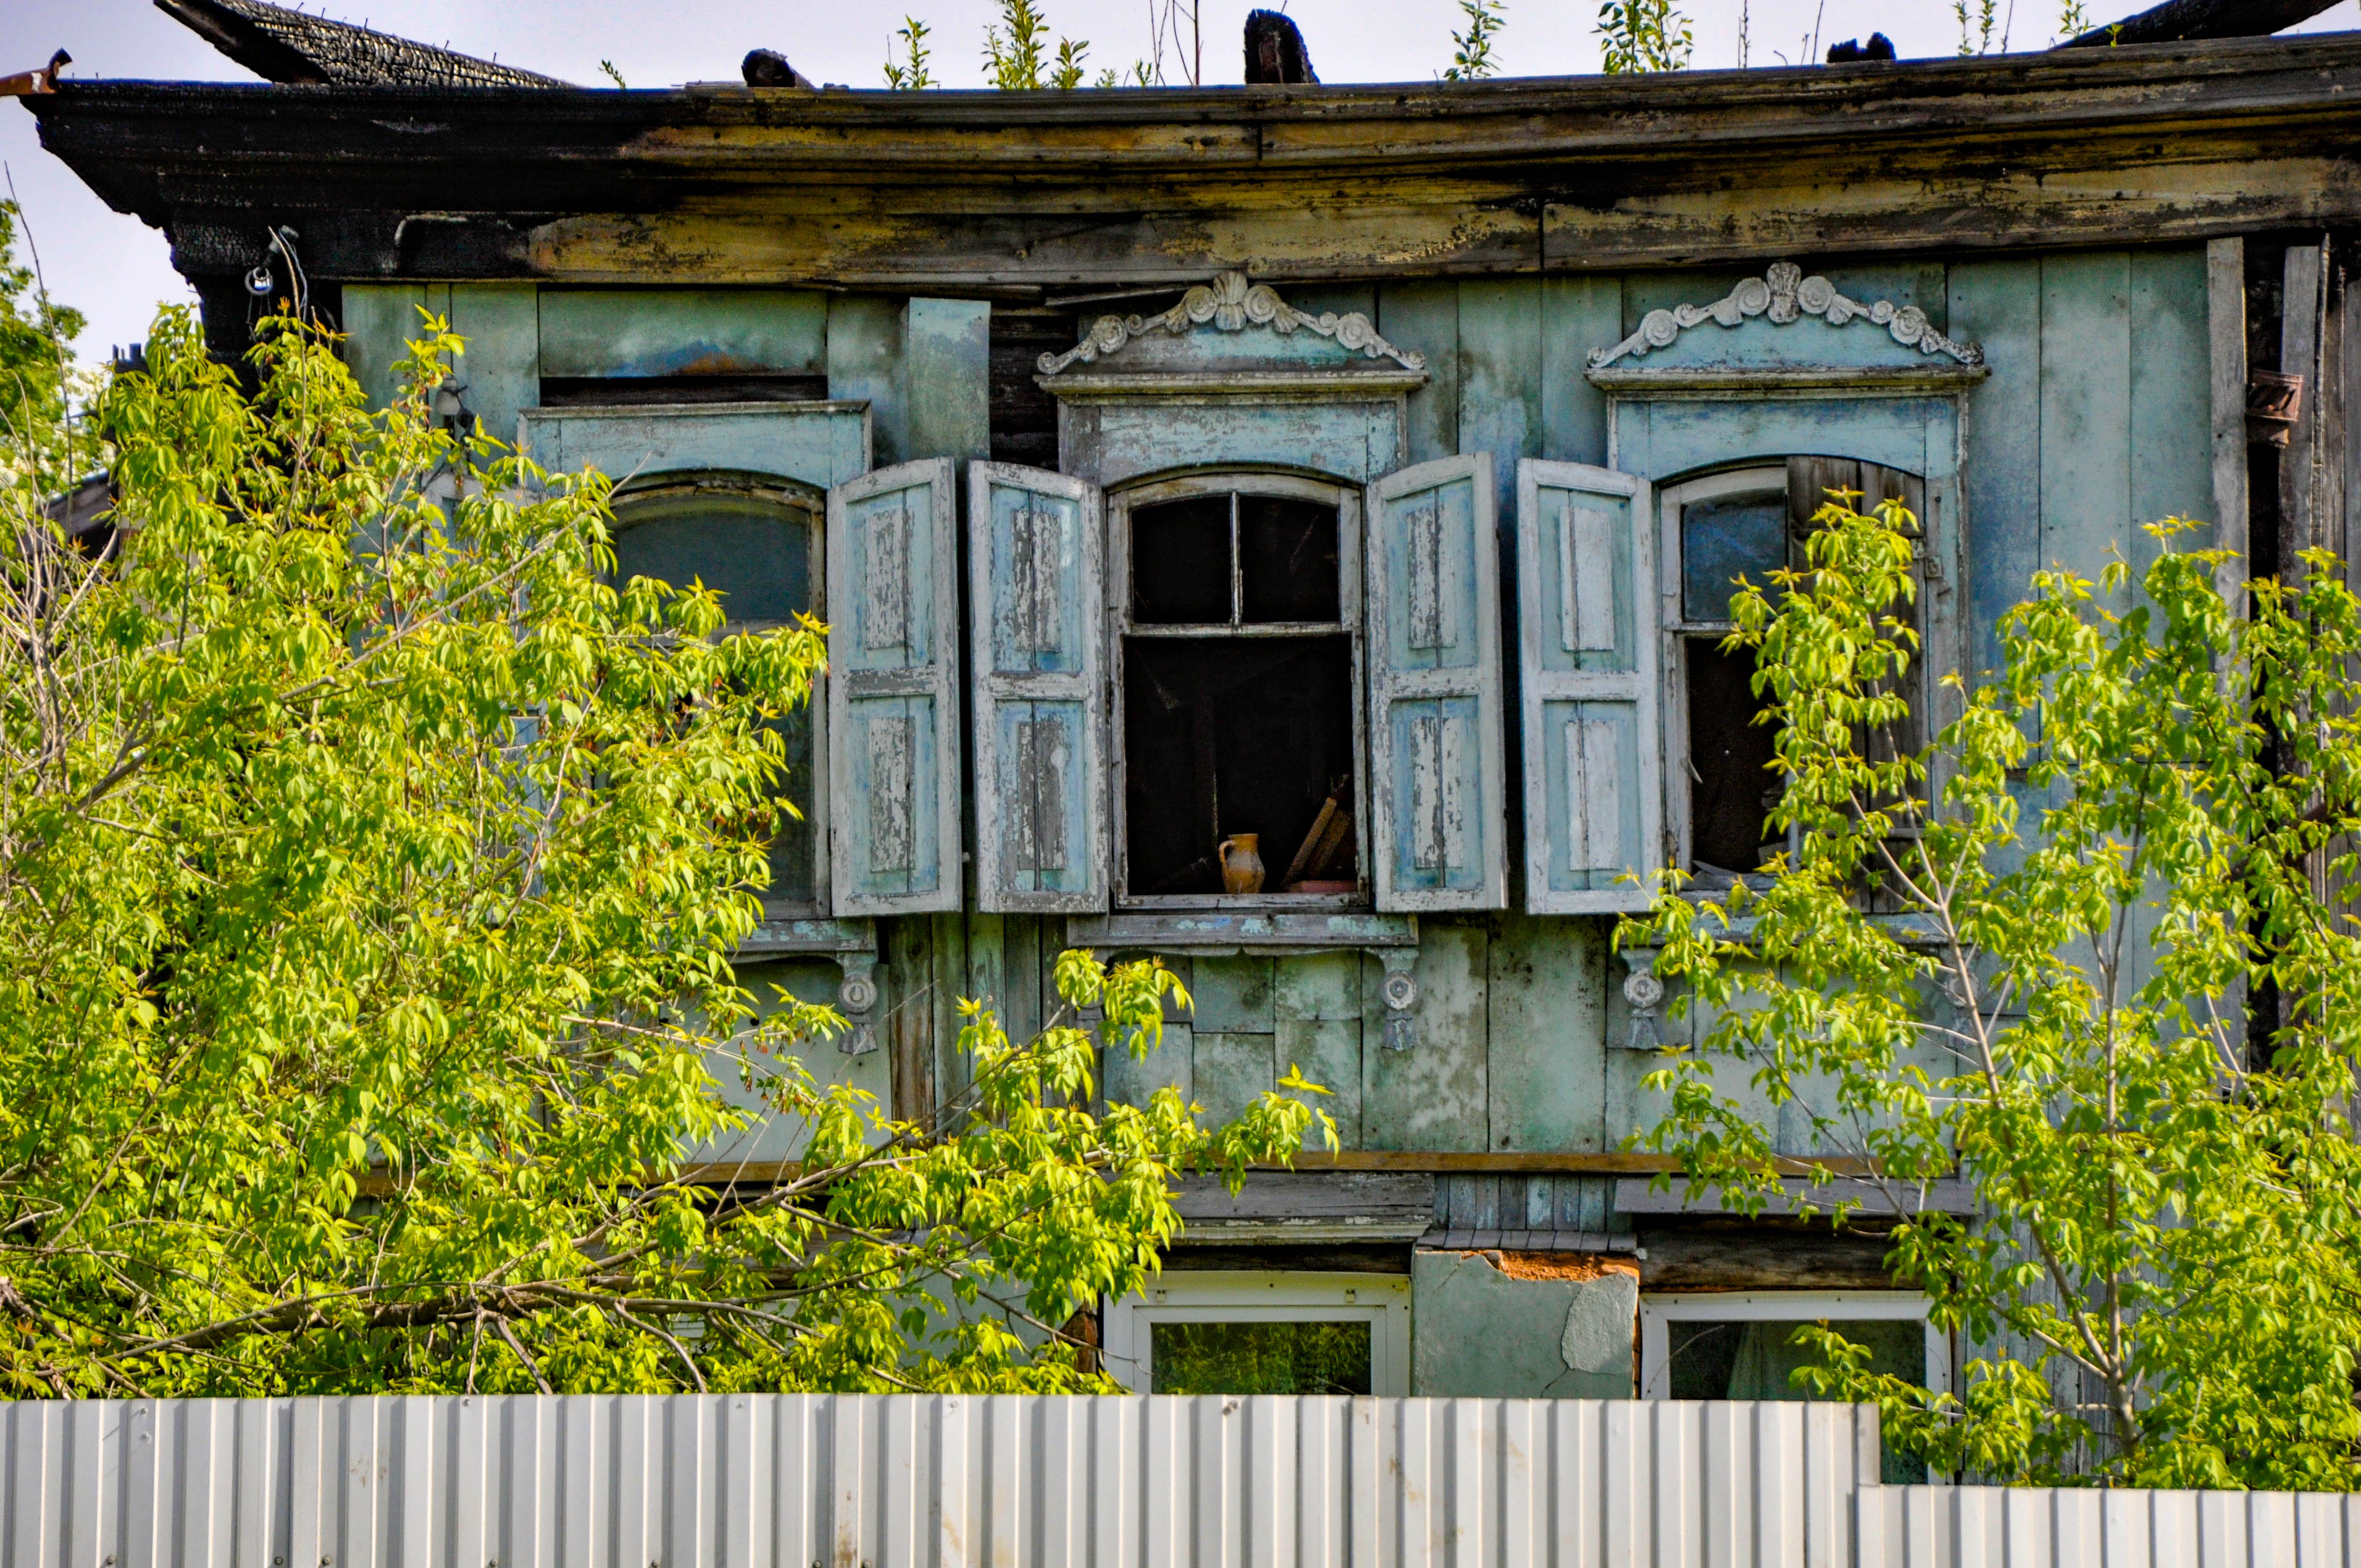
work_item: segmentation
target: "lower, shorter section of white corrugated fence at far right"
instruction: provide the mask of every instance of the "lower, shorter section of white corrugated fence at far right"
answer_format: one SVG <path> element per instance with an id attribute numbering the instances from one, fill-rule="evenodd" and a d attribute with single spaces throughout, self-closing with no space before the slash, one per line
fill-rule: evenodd
<path id="1" fill-rule="evenodd" d="M 1860 1568 L 2356 1568 L 2361 1495 L 1860 1490 Z"/>

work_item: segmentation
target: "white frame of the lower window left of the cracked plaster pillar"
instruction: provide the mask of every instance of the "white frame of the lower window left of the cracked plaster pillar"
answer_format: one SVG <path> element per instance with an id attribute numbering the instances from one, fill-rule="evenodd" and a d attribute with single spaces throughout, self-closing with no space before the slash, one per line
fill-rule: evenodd
<path id="1" fill-rule="evenodd" d="M 1410 1393 L 1410 1275 L 1162 1273 L 1110 1301 L 1100 1325 L 1105 1370 L 1133 1393 L 1155 1389 L 1159 1322 L 1367 1322 L 1369 1393 Z"/>

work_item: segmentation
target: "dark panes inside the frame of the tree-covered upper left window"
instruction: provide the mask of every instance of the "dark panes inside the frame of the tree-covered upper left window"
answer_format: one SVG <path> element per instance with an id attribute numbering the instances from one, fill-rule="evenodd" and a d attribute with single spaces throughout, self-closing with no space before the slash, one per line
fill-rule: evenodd
<path id="1" fill-rule="evenodd" d="M 793 621 L 812 605 L 812 520 L 800 508 L 744 491 L 666 489 L 616 501 L 616 581 L 652 576 L 685 588 L 701 581 L 732 621 Z M 810 904 L 817 897 L 812 855 L 812 711 L 777 720 L 786 749 L 779 810 L 770 841 L 765 902 Z"/>

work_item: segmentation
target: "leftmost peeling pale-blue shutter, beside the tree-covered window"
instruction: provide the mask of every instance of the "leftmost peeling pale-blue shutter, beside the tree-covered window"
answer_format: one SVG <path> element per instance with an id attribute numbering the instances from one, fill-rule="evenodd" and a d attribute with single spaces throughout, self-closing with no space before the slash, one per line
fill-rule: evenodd
<path id="1" fill-rule="evenodd" d="M 959 491 L 949 458 L 829 491 L 836 914 L 959 909 Z"/>

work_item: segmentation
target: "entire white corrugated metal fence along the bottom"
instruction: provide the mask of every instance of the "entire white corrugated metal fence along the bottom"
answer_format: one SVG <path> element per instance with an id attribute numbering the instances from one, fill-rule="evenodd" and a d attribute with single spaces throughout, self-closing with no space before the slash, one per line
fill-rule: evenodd
<path id="1" fill-rule="evenodd" d="M 1797 1403 L 0 1403 L 0 1568 L 2361 1568 L 2361 1497 L 1875 1478 Z"/>

